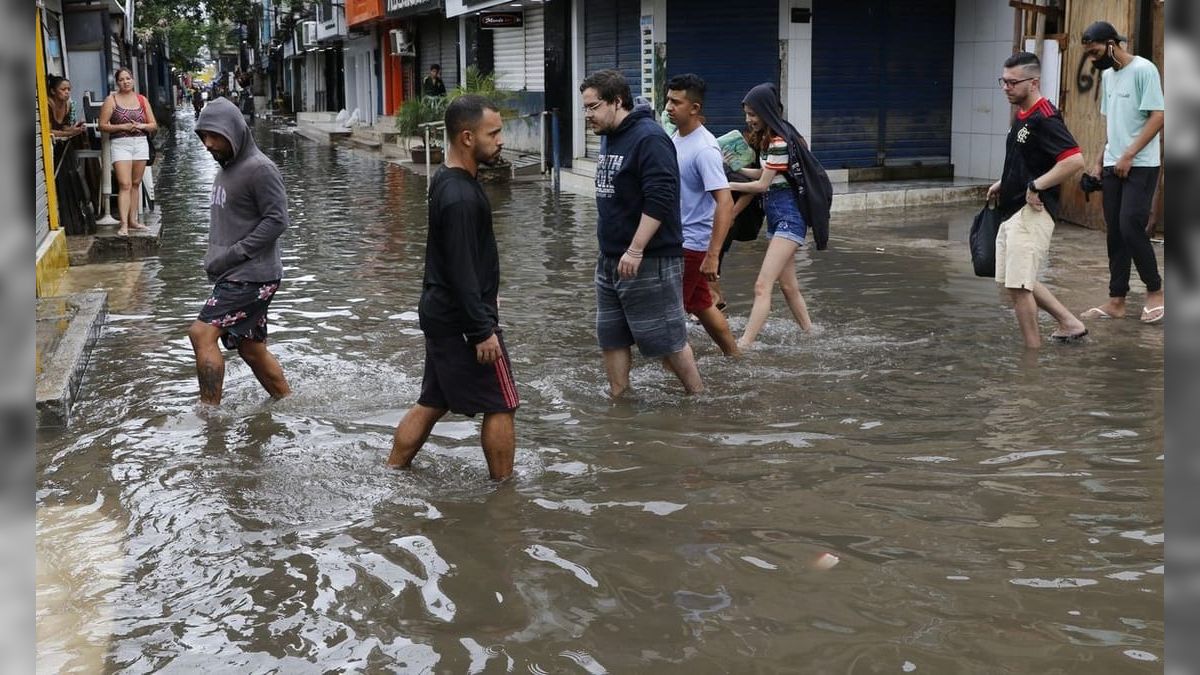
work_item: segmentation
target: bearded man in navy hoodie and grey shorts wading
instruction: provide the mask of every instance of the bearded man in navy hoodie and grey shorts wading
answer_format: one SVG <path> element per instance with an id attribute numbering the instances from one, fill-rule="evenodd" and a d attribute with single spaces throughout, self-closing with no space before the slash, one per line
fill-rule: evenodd
<path id="1" fill-rule="evenodd" d="M 580 85 L 600 136 L 596 159 L 596 339 L 608 393 L 629 389 L 632 346 L 661 358 L 689 394 L 703 390 L 683 310 L 683 225 L 674 144 L 625 78 L 602 70 Z"/>

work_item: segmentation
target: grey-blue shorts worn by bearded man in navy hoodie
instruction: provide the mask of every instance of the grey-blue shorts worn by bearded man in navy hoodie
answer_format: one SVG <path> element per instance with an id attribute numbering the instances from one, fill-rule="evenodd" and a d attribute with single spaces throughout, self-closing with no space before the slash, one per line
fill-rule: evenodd
<path id="1" fill-rule="evenodd" d="M 646 358 L 688 346 L 683 257 L 646 258 L 634 279 L 617 274 L 619 258 L 596 258 L 596 340 L 601 350 L 637 345 Z"/>

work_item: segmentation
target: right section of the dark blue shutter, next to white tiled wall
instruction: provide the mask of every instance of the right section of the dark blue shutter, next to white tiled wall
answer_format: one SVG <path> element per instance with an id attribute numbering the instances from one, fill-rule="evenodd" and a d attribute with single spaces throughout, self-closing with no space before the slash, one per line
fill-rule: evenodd
<path id="1" fill-rule="evenodd" d="M 954 0 L 907 0 L 886 7 L 884 163 L 949 165 Z"/>

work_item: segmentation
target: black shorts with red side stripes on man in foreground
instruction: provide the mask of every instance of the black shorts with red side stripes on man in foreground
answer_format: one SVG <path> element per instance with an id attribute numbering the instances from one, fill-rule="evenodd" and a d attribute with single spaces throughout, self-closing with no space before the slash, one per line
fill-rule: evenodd
<path id="1" fill-rule="evenodd" d="M 418 404 L 458 414 L 512 412 L 521 405 L 504 336 L 500 358 L 481 364 L 462 335 L 425 339 L 425 377 Z"/>

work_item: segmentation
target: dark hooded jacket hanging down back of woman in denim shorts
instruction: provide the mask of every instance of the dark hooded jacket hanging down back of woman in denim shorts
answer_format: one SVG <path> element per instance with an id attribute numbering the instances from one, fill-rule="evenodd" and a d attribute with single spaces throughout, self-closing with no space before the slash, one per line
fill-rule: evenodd
<path id="1" fill-rule="evenodd" d="M 764 82 L 756 85 L 742 102 L 754 108 L 772 133 L 787 141 L 788 171 L 784 177 L 792 186 L 804 221 L 812 229 L 817 250 L 823 251 L 829 245 L 829 211 L 833 207 L 829 174 L 809 150 L 800 132 L 784 119 L 784 106 L 774 84 Z"/>

